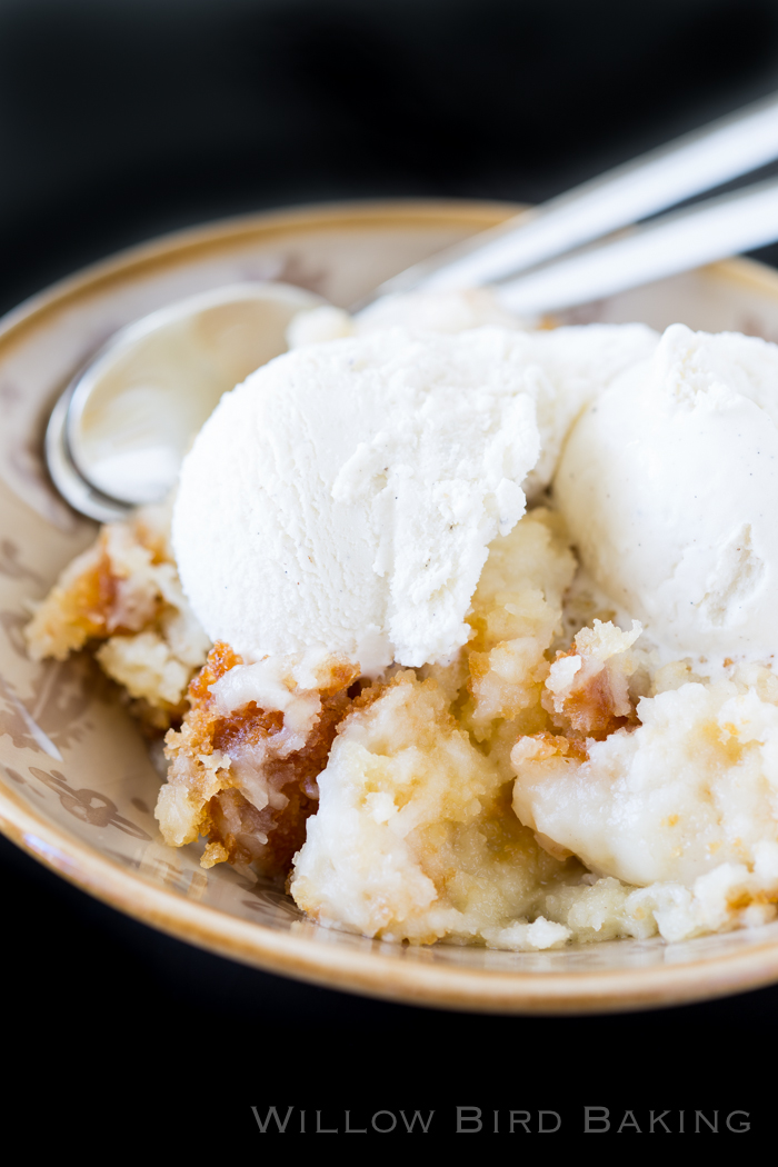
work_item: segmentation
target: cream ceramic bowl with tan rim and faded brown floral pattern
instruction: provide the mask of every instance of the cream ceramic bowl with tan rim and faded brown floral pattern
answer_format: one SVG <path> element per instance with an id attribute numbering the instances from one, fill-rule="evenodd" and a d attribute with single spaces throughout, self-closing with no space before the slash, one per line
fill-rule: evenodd
<path id="1" fill-rule="evenodd" d="M 411 948 L 320 928 L 292 900 L 156 831 L 160 780 L 115 691 L 85 656 L 33 664 L 21 628 L 93 538 L 49 485 L 42 432 L 52 401 L 117 329 L 195 292 L 279 279 L 349 305 L 411 263 L 516 208 L 391 202 L 219 223 L 98 264 L 0 326 L 0 829 L 92 895 L 181 939 L 247 964 L 400 1001 L 493 1012 L 595 1012 L 700 1000 L 778 979 L 778 923 L 667 945 L 615 941 L 551 952 Z M 717 264 L 568 314 L 673 321 L 778 340 L 778 275 Z"/>

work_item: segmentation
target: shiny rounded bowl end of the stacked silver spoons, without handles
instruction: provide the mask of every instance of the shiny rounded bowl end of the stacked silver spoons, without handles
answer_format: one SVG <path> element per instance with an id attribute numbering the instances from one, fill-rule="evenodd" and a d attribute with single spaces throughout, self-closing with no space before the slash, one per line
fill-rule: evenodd
<path id="1" fill-rule="evenodd" d="M 99 522 L 164 498 L 222 394 L 286 350 L 299 312 L 324 302 L 289 284 L 232 284 L 124 328 L 55 406 L 45 438 L 55 485 Z"/>

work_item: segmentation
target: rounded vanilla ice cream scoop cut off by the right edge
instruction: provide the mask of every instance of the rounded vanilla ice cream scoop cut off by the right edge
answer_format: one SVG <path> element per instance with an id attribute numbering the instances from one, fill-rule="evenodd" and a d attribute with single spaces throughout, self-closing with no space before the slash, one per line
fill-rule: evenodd
<path id="1" fill-rule="evenodd" d="M 595 582 L 670 654 L 778 651 L 778 347 L 673 324 L 575 425 L 554 482 Z"/>

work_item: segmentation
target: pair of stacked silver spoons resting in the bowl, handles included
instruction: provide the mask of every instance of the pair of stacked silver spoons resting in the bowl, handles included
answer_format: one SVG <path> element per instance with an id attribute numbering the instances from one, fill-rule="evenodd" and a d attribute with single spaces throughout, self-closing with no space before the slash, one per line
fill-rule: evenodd
<path id="1" fill-rule="evenodd" d="M 772 97 L 408 268 L 359 307 L 395 292 L 503 280 L 495 292 L 506 309 L 541 313 L 771 243 L 778 238 L 776 181 L 566 254 L 777 156 Z M 518 272 L 525 274 L 506 281 Z M 243 284 L 122 329 L 51 413 L 45 456 L 55 485 L 100 522 L 164 497 L 222 393 L 285 351 L 297 312 L 324 302 L 289 285 Z"/>

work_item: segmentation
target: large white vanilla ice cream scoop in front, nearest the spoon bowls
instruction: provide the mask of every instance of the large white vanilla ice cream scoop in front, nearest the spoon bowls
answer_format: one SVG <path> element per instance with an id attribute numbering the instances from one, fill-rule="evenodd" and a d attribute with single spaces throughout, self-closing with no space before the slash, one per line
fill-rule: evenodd
<path id="1" fill-rule="evenodd" d="M 391 329 L 296 349 L 225 394 L 173 520 L 209 636 L 365 672 L 448 659 L 489 543 L 525 509 L 540 445 L 525 369 L 503 329 Z"/>

